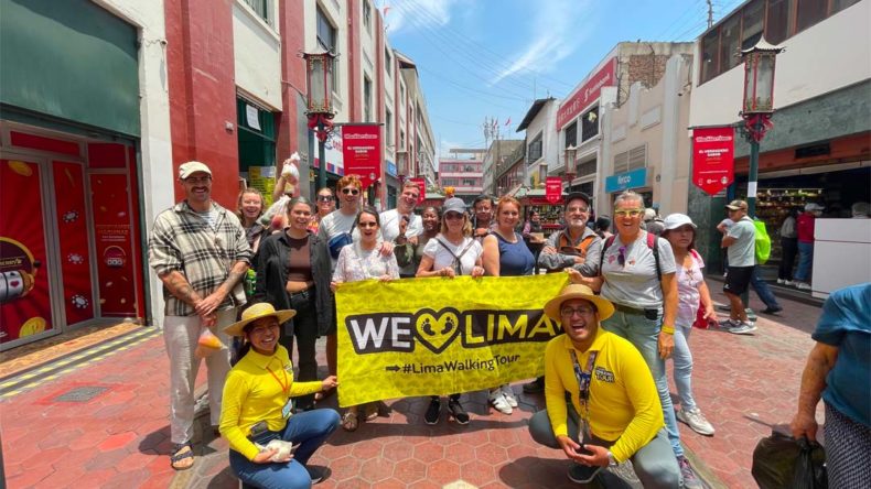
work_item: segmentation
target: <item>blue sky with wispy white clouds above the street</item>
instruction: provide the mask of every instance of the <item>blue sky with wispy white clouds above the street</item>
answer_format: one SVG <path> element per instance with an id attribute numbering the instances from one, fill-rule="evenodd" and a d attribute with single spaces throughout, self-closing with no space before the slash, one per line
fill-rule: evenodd
<path id="1" fill-rule="evenodd" d="M 719 21 L 743 0 L 712 0 Z M 390 44 L 411 57 L 437 153 L 502 139 L 536 98 L 563 99 L 621 41 L 693 41 L 706 0 L 377 0 Z M 506 126 L 507 123 L 507 126 Z M 437 169 L 438 171 L 438 169 Z"/>

